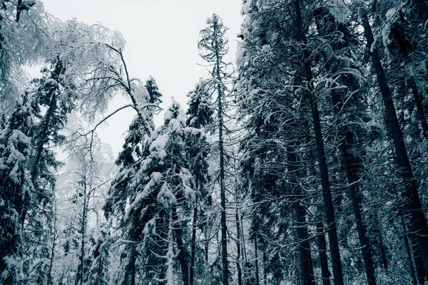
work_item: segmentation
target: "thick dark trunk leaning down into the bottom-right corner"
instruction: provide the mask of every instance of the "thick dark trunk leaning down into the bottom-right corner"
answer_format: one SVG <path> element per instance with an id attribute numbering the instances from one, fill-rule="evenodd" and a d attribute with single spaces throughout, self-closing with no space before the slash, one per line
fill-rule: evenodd
<path id="1" fill-rule="evenodd" d="M 407 155 L 406 145 L 402 130 L 399 126 L 397 113 L 395 112 L 394 102 L 392 101 L 391 90 L 387 85 L 387 78 L 385 76 L 382 62 L 380 61 L 377 48 L 374 46 L 374 37 L 372 28 L 370 26 L 367 12 L 364 8 L 360 9 L 360 16 L 362 26 L 365 31 L 365 38 L 367 39 L 367 46 L 370 47 L 370 54 L 372 56 L 372 63 L 374 71 L 377 76 L 377 83 L 379 84 L 380 92 L 382 93 L 382 100 L 385 108 L 385 123 L 389 132 L 391 133 L 394 142 L 395 158 L 397 165 L 402 172 L 402 179 L 404 180 L 404 191 L 402 192 L 404 211 L 410 214 L 409 229 L 417 236 L 417 244 L 422 255 L 424 264 L 425 275 L 428 274 L 428 226 L 427 219 L 425 218 L 422 210 L 422 204 L 417 192 L 416 181 L 413 177 L 412 167 Z"/>

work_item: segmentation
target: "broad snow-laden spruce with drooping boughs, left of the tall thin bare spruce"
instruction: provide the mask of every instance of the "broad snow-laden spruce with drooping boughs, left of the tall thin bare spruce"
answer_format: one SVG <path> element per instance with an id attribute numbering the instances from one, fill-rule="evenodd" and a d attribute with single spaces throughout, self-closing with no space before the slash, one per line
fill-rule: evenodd
<path id="1" fill-rule="evenodd" d="M 178 276 L 175 266 L 180 266 L 181 279 L 188 283 L 190 250 L 185 245 L 185 225 L 195 192 L 185 160 L 184 138 L 185 116 L 173 101 L 165 111 L 164 125 L 146 138 L 144 156 L 136 162 L 135 175 L 128 184 L 132 189 L 126 198 L 129 205 L 118 218 L 123 227 L 123 261 L 115 279 L 118 284 L 136 284 L 136 279 L 147 284 L 154 280 L 174 284 Z"/>

